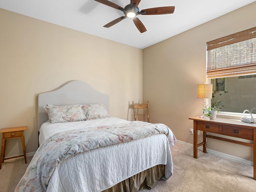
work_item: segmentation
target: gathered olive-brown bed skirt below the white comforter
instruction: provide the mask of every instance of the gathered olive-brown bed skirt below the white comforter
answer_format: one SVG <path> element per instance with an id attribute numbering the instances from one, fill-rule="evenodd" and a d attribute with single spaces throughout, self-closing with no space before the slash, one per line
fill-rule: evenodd
<path id="1" fill-rule="evenodd" d="M 165 165 L 157 165 L 142 171 L 102 192 L 138 192 L 151 189 L 164 175 Z"/>

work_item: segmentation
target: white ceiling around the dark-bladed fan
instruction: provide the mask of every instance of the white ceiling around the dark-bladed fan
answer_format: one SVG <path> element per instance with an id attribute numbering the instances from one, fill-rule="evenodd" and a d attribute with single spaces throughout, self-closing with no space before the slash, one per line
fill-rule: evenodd
<path id="1" fill-rule="evenodd" d="M 110 1 L 122 7 L 130 3 Z M 104 28 L 124 14 L 94 0 L 0 0 L 0 8 L 143 49 L 252 2 L 255 0 L 141 0 L 140 10 L 175 6 L 173 14 L 138 15 L 147 29 L 144 33 L 130 18 Z"/>

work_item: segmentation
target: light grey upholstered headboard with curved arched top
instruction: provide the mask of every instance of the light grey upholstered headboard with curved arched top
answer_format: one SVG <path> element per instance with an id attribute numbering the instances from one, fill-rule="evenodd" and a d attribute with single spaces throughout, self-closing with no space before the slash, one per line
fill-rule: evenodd
<path id="1" fill-rule="evenodd" d="M 90 85 L 82 81 L 71 81 L 64 86 L 46 93 L 38 94 L 37 126 L 48 120 L 48 114 L 44 110 L 47 104 L 62 106 L 74 104 L 104 104 L 109 112 L 109 96 L 94 90 Z"/>

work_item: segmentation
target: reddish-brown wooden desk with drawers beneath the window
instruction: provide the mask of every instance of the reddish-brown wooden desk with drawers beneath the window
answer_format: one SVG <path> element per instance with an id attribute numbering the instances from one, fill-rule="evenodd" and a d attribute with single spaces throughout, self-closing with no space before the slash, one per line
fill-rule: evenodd
<path id="1" fill-rule="evenodd" d="M 213 138 L 222 141 L 232 142 L 236 144 L 241 144 L 249 147 L 253 147 L 253 179 L 256 180 L 256 124 L 254 123 L 244 123 L 240 120 L 216 118 L 216 119 L 206 119 L 198 117 L 189 118 L 194 120 L 194 133 L 197 130 L 203 131 L 203 142 L 198 144 L 198 136 L 194 134 L 194 158 L 197 158 L 198 147 L 203 145 L 203 152 L 206 153 L 206 138 Z M 253 144 L 221 138 L 217 136 L 208 135 L 207 132 L 216 133 L 226 136 L 232 136 L 236 138 L 242 138 L 246 140 L 253 141 Z"/>

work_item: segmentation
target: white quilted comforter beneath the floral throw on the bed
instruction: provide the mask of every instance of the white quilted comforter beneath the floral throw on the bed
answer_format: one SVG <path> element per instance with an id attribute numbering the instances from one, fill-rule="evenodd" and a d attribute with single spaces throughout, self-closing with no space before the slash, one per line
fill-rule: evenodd
<path id="1" fill-rule="evenodd" d="M 40 144 L 58 132 L 74 129 L 74 126 L 82 129 L 85 125 L 95 127 L 125 122 L 128 121 L 104 118 L 72 123 L 45 123 L 40 129 Z M 172 134 L 171 130 L 169 132 Z M 56 166 L 46 191 L 100 192 L 158 164 L 167 165 L 163 179 L 168 179 L 173 172 L 170 147 L 175 141 L 174 136 L 170 142 L 165 134 L 156 134 L 78 153 Z"/>

